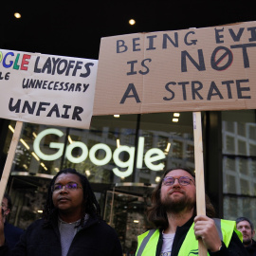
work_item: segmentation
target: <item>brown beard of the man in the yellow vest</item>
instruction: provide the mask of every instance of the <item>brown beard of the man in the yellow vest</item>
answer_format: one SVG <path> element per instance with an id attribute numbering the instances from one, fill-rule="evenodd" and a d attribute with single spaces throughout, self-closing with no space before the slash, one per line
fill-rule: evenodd
<path id="1" fill-rule="evenodd" d="M 195 207 L 195 202 L 183 193 L 183 196 L 178 199 L 173 199 L 166 196 L 161 199 L 161 204 L 166 212 L 179 213 L 185 209 L 192 210 Z"/>

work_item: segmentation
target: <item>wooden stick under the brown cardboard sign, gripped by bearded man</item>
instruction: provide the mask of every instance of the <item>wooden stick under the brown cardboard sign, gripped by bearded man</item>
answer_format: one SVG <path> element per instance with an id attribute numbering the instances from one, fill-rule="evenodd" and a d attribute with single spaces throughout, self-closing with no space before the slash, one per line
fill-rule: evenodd
<path id="1" fill-rule="evenodd" d="M 196 211 L 197 215 L 206 215 L 205 179 L 204 179 L 204 155 L 202 141 L 201 112 L 193 112 L 193 142 L 194 164 L 196 180 Z M 207 256 L 207 248 L 202 239 L 198 240 L 199 256 Z"/>

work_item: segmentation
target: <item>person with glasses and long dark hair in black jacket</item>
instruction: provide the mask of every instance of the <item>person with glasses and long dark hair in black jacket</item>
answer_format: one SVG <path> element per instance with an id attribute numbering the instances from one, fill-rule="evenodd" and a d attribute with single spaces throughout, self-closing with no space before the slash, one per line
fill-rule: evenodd
<path id="1" fill-rule="evenodd" d="M 116 231 L 101 219 L 87 178 L 65 169 L 51 180 L 43 218 L 32 223 L 12 250 L 0 214 L 1 256 L 122 256 Z"/>

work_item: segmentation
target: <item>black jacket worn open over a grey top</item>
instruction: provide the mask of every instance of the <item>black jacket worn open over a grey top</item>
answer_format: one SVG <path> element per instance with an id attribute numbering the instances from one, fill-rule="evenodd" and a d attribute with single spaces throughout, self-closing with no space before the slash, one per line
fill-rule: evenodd
<path id="1" fill-rule="evenodd" d="M 62 246 L 58 221 L 44 226 L 44 220 L 32 223 L 13 250 L 0 247 L 1 256 L 61 256 Z M 67 256 L 122 256 L 114 229 L 96 217 L 89 217 L 75 235 Z"/>

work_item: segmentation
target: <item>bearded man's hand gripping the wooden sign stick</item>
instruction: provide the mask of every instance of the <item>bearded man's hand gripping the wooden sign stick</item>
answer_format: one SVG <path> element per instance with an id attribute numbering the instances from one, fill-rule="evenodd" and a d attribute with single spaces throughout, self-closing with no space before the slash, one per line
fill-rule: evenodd
<path id="1" fill-rule="evenodd" d="M 211 251 L 217 251 L 222 245 L 215 223 L 207 216 L 198 215 L 194 218 L 194 235 L 202 238 L 204 245 Z"/>

